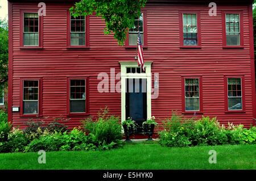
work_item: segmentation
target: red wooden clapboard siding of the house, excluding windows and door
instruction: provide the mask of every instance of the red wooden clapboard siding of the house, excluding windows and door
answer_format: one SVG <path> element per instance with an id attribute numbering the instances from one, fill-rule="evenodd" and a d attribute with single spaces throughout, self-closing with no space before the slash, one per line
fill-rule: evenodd
<path id="1" fill-rule="evenodd" d="M 20 49 L 20 10 L 38 9 L 37 3 L 10 4 L 10 85 L 9 117 L 14 127 L 24 128 L 28 117 L 12 113 L 11 107 L 19 106 L 20 79 L 42 78 L 42 115 L 71 118 L 67 125 L 75 127 L 85 116 L 66 116 L 67 78 L 89 78 L 89 114 L 95 116 L 100 108 L 109 106 L 111 113 L 121 116 L 121 94 L 97 91 L 97 75 L 110 68 L 120 71 L 118 61 L 135 61 L 136 49 L 118 47 L 112 35 L 104 35 L 105 23 L 96 16 L 89 17 L 89 47 L 67 48 L 67 3 L 46 3 L 47 14 L 43 17 L 43 49 Z M 189 12 L 200 11 L 201 48 L 180 48 L 180 12 L 185 5 L 148 4 L 147 48 L 144 59 L 153 61 L 152 73 L 159 73 L 159 97 L 152 99 L 152 115 L 159 123 L 171 116 L 172 110 L 182 112 L 182 77 L 201 77 L 203 88 L 203 115 L 217 116 L 221 124 L 228 121 L 253 123 L 255 109 L 253 32 L 251 6 L 219 5 L 217 16 L 209 16 L 208 6 L 189 5 Z M 222 46 L 221 11 L 242 11 L 243 48 L 224 49 Z M 249 17 L 250 15 L 250 17 Z M 146 26 L 145 26 L 146 27 Z M 86 39 L 88 40 L 88 39 Z M 13 47 L 12 47 L 13 45 Z M 224 89 L 225 75 L 243 75 L 245 84 L 245 112 L 226 113 Z M 154 78 L 153 78 L 154 79 Z M 153 80 L 154 81 L 154 80 Z M 118 82 L 118 81 L 116 81 Z M 201 97 L 200 97 L 201 99 Z M 201 116 L 202 114 L 198 115 Z M 193 114 L 191 115 L 193 116 Z M 48 119 L 52 120 L 52 119 Z"/>

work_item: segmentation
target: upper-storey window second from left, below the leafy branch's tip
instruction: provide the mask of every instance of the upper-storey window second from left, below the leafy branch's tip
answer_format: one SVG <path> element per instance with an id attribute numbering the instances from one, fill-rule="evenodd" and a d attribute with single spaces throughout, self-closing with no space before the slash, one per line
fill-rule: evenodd
<path id="1" fill-rule="evenodd" d="M 70 45 L 85 45 L 85 16 L 70 16 Z"/>

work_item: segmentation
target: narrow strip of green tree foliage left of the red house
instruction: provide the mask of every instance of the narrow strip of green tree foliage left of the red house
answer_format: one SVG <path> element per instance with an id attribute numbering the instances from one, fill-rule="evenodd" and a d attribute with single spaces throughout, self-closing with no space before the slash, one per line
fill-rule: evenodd
<path id="1" fill-rule="evenodd" d="M 8 23 L 0 19 L 0 91 L 8 81 Z"/>

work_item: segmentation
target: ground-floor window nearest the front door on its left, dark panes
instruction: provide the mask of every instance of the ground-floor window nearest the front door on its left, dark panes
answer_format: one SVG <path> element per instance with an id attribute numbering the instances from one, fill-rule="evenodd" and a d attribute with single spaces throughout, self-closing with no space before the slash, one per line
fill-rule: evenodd
<path id="1" fill-rule="evenodd" d="M 70 80 L 69 111 L 71 113 L 85 113 L 85 79 Z"/>

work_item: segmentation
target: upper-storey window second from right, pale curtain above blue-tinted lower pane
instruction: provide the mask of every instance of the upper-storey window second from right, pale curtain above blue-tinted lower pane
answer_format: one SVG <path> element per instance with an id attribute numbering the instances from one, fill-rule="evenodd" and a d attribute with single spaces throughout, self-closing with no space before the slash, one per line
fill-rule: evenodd
<path id="1" fill-rule="evenodd" d="M 197 15 L 183 14 L 183 45 L 197 45 Z"/>

